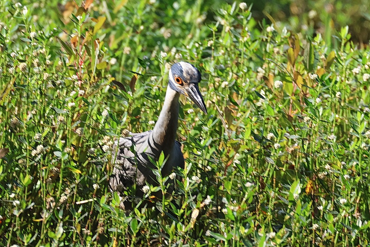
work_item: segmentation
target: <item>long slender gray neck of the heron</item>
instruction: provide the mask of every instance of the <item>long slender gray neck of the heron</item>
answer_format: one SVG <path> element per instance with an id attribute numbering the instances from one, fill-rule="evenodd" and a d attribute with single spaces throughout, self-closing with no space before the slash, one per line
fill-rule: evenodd
<path id="1" fill-rule="evenodd" d="M 165 155 L 168 155 L 175 144 L 177 122 L 179 117 L 179 96 L 180 94 L 167 86 L 164 104 L 159 114 L 157 123 L 153 128 L 152 137 Z"/>

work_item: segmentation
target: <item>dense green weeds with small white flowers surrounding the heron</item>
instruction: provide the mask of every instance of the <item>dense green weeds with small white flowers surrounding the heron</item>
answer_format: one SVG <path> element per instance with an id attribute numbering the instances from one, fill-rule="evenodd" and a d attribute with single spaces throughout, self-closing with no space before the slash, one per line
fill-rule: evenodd
<path id="1" fill-rule="evenodd" d="M 348 27 L 306 36 L 239 3 L 78 4 L 0 3 L 0 246 L 369 245 L 370 51 Z M 156 208 L 124 212 L 112 144 L 153 127 L 180 60 L 208 115 L 181 97 L 185 170 Z"/>

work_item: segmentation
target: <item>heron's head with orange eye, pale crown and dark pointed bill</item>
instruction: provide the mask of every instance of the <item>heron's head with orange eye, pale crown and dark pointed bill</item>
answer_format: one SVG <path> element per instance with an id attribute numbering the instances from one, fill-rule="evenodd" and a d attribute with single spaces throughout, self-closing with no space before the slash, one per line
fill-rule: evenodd
<path id="1" fill-rule="evenodd" d="M 201 81 L 201 73 L 190 63 L 178 62 L 169 70 L 169 86 L 178 93 L 189 97 L 194 103 L 207 114 L 206 105 L 199 91 L 198 83 Z"/>

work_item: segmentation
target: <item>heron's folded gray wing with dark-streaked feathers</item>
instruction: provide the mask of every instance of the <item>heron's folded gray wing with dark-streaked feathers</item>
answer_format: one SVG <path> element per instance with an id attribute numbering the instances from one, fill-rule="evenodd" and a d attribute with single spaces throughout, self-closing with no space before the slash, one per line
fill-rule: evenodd
<path id="1" fill-rule="evenodd" d="M 114 168 L 109 179 L 112 191 L 120 193 L 134 184 L 139 187 L 145 185 L 145 177 L 137 168 L 134 147 L 138 149 L 145 143 L 150 133 L 151 131 L 130 133 L 128 137 L 121 137 L 114 144 L 112 158 Z"/>

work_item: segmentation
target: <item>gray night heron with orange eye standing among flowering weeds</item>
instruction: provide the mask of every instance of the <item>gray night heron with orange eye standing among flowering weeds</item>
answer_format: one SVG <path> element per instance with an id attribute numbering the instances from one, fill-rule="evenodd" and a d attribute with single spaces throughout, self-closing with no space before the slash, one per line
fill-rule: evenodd
<path id="1" fill-rule="evenodd" d="M 127 199 L 124 191 L 136 185 L 136 198 L 142 198 L 143 186 L 146 183 L 158 185 L 152 170 L 156 169 L 153 161 L 158 161 L 163 151 L 167 158 L 162 167 L 162 176 L 166 176 L 174 167 L 184 168 L 184 156 L 181 144 L 175 141 L 179 115 L 179 96 L 188 96 L 199 108 L 207 114 L 202 95 L 198 88 L 201 73 L 192 64 L 175 63 L 169 70 L 168 86 L 164 104 L 153 130 L 143 133 L 130 133 L 129 137 L 120 138 L 115 144 L 114 169 L 110 177 L 110 188 L 117 191 L 124 199 L 121 207 L 131 209 L 131 200 Z"/>

